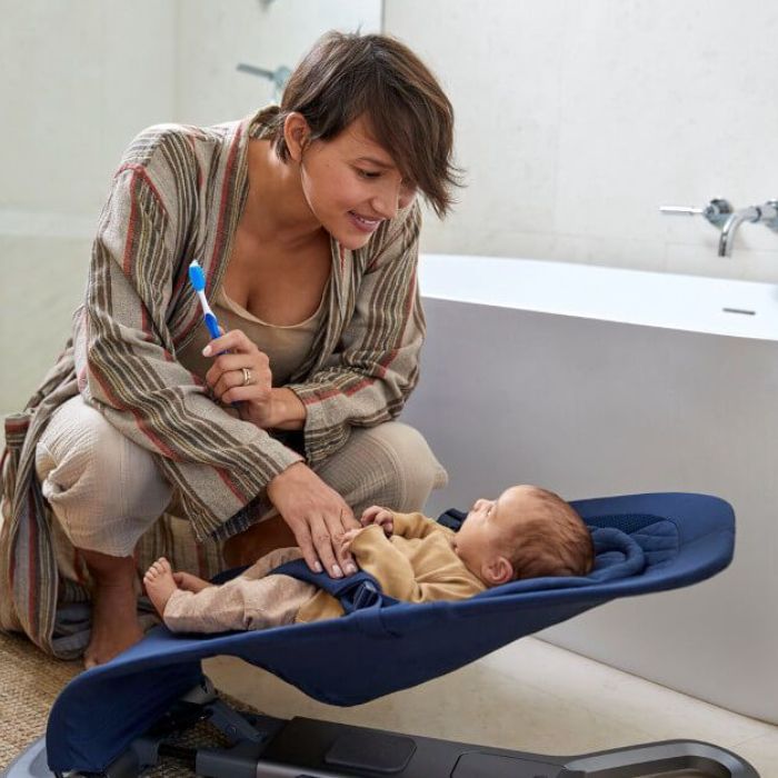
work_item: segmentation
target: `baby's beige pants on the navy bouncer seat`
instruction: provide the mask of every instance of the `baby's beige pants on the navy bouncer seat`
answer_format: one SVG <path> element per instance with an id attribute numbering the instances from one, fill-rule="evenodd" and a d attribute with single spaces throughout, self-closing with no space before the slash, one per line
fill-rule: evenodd
<path id="1" fill-rule="evenodd" d="M 225 632 L 292 624 L 318 588 L 290 576 L 268 576 L 279 565 L 300 558 L 299 548 L 271 551 L 221 586 L 174 591 L 162 619 L 171 632 Z"/>

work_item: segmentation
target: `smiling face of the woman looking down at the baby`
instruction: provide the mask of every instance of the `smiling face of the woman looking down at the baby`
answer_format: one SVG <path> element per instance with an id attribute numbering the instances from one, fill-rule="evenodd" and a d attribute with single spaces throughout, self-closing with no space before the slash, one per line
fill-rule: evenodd
<path id="1" fill-rule="evenodd" d="M 389 153 L 357 119 L 337 138 L 303 146 L 300 180 L 308 207 L 347 249 L 363 247 L 385 219 L 409 206 L 409 187 Z"/>

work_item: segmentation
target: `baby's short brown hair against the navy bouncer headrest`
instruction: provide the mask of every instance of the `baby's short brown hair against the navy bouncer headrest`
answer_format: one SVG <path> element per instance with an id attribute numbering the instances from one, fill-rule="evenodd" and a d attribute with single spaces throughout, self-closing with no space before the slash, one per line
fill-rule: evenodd
<path id="1" fill-rule="evenodd" d="M 515 545 L 507 555 L 515 580 L 591 572 L 595 548 L 581 517 L 552 491 L 533 487 L 532 492 L 540 502 L 538 515 L 517 525 Z"/>

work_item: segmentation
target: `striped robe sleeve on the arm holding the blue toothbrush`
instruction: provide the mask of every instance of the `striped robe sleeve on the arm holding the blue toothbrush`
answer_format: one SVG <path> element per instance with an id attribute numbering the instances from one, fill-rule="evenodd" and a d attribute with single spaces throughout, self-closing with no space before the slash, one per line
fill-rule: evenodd
<path id="1" fill-rule="evenodd" d="M 338 348 L 322 369 L 289 386 L 306 406 L 310 463 L 340 448 L 351 427 L 396 418 L 418 381 L 426 330 L 417 283 L 420 228 L 415 203 L 377 236 Z"/>

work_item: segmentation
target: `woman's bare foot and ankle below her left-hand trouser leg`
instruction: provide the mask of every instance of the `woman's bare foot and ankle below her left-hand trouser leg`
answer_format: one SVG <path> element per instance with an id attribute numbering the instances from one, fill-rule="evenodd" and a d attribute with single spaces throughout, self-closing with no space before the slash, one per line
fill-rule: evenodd
<path id="1" fill-rule="evenodd" d="M 143 637 L 138 622 L 132 557 L 81 549 L 92 578 L 92 628 L 83 655 L 87 669 L 104 665 Z"/>

